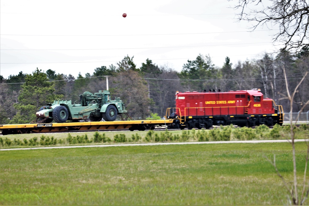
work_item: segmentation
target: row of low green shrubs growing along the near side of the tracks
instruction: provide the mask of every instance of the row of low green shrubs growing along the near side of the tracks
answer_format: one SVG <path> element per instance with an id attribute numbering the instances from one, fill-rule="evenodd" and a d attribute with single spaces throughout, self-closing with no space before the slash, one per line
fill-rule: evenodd
<path id="1" fill-rule="evenodd" d="M 294 128 L 295 134 L 299 133 L 302 136 L 308 135 L 308 125 L 303 124 L 298 128 Z M 265 125 L 260 125 L 256 128 L 235 128 L 233 125 L 226 127 L 214 128 L 211 130 L 182 130 L 181 134 L 173 134 L 167 129 L 164 132 L 154 132 L 149 130 L 145 138 L 142 138 L 138 133 L 132 134 L 131 138 L 127 138 L 125 134 L 116 134 L 111 140 L 105 136 L 105 133 L 95 132 L 92 138 L 88 138 L 87 134 L 77 135 L 73 137 L 70 133 L 63 140 L 57 140 L 54 137 L 45 137 L 42 135 L 40 141 L 37 137 L 32 139 L 11 140 L 9 138 L 0 137 L 1 146 L 36 146 L 36 145 L 74 145 L 87 143 L 105 143 L 105 142 L 169 142 L 169 141 L 233 141 L 233 140 L 265 140 L 265 139 L 288 139 L 290 127 L 275 125 L 273 129 Z M 304 137 L 303 137 L 304 138 Z"/>

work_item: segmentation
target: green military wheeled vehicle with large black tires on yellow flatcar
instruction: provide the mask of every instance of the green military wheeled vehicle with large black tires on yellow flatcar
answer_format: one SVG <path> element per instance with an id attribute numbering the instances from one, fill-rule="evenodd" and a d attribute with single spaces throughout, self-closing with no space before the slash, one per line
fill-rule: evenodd
<path id="1" fill-rule="evenodd" d="M 110 99 L 108 90 L 100 90 L 98 93 L 85 91 L 79 95 L 80 102 L 72 104 L 70 98 L 56 99 L 54 103 L 41 107 L 36 112 L 40 123 L 50 123 L 53 120 L 57 123 L 66 121 L 114 121 L 117 114 L 127 112 L 120 98 Z"/>

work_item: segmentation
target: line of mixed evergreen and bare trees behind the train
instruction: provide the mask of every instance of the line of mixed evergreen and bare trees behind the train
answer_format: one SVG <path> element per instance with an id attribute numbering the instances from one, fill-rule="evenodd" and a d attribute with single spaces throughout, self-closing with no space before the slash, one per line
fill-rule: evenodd
<path id="1" fill-rule="evenodd" d="M 260 88 L 264 98 L 272 98 L 288 111 L 289 101 L 283 74 L 288 87 L 293 89 L 308 71 L 308 49 L 297 54 L 285 53 L 273 57 L 265 53 L 260 59 L 238 61 L 232 65 L 226 57 L 222 67 L 215 66 L 209 55 L 199 54 L 188 60 L 180 72 L 165 65 L 158 66 L 146 59 L 138 68 L 134 57 L 125 56 L 116 65 L 101 66 L 93 74 L 56 74 L 36 68 L 32 74 L 22 71 L 8 78 L 1 78 L 0 124 L 23 124 L 34 120 L 38 109 L 56 98 L 79 101 L 79 94 L 106 90 L 108 77 L 112 99 L 120 97 L 133 119 L 146 119 L 151 113 L 163 117 L 166 108 L 175 107 L 175 92 L 230 91 Z M 84 76 L 83 76 L 84 75 Z M 298 112 L 309 99 L 308 75 L 294 97 L 293 111 Z M 308 111 L 308 107 L 305 108 Z"/>

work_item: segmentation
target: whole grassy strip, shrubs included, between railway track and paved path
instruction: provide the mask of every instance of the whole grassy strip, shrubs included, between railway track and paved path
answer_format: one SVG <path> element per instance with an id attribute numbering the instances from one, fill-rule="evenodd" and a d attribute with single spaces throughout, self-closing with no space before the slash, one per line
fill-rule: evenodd
<path id="1" fill-rule="evenodd" d="M 295 128 L 295 138 L 308 138 L 308 126 Z M 212 130 L 133 131 L 133 132 L 71 132 L 46 134 L 17 134 L 0 137 L 1 148 L 42 147 L 63 145 L 98 145 L 119 143 L 237 141 L 290 139 L 290 127 L 265 125 L 252 128 L 218 127 Z"/>

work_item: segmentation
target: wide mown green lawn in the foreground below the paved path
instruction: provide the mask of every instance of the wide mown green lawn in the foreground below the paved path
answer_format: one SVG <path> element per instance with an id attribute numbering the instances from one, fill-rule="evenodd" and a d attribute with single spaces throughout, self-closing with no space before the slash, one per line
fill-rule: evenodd
<path id="1" fill-rule="evenodd" d="M 296 149 L 301 183 L 306 144 L 296 143 Z M 288 204 L 265 159 L 273 154 L 280 173 L 292 181 L 289 143 L 0 151 L 0 204 Z"/>

